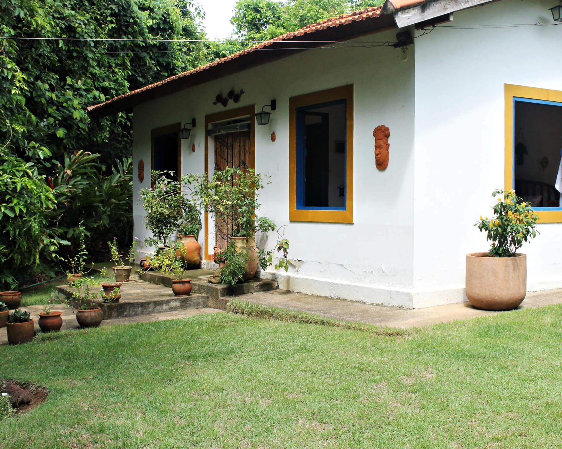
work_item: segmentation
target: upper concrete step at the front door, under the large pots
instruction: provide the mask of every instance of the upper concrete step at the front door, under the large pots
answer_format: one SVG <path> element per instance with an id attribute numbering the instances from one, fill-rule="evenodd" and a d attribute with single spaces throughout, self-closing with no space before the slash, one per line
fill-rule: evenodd
<path id="1" fill-rule="evenodd" d="M 250 281 L 229 287 L 223 284 L 209 282 L 213 272 L 206 269 L 190 270 L 185 278 L 191 279 L 192 294 L 206 295 L 209 297 L 209 307 L 226 309 L 226 304 L 232 296 L 242 296 L 263 291 L 277 290 L 277 281 L 254 278 Z M 143 281 L 171 287 L 172 277 L 156 271 L 147 271 L 140 275 Z"/>

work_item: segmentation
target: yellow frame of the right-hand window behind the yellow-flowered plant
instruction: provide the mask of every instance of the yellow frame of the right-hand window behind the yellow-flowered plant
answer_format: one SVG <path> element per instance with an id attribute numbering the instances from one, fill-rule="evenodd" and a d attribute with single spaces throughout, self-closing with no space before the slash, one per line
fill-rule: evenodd
<path id="1" fill-rule="evenodd" d="M 562 103 L 562 91 L 531 88 L 515 84 L 505 85 L 505 168 L 504 189 L 513 189 L 514 157 L 513 157 L 513 120 L 514 120 L 514 97 L 529 98 Z M 516 193 L 516 192 L 515 192 Z M 540 223 L 562 223 L 562 210 L 537 210 Z"/>

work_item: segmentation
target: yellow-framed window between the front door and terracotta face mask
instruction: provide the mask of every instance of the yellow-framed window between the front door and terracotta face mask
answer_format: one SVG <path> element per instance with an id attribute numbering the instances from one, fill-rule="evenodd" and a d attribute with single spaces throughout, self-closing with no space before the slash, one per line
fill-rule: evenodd
<path id="1" fill-rule="evenodd" d="M 289 217 L 353 221 L 353 86 L 290 100 Z"/>

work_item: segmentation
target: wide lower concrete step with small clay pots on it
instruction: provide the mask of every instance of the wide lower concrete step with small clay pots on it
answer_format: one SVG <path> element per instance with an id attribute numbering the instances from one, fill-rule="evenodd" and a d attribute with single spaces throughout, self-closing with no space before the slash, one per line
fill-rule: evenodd
<path id="1" fill-rule="evenodd" d="M 68 299 L 72 297 L 72 287 L 62 285 L 57 291 Z M 194 294 L 189 296 L 174 296 L 171 288 L 155 285 L 144 281 L 124 282 L 120 288 L 121 299 L 117 303 L 96 304 L 103 311 L 103 319 L 130 318 L 139 315 L 171 312 L 184 309 L 206 308 L 209 304 L 207 295 Z"/>

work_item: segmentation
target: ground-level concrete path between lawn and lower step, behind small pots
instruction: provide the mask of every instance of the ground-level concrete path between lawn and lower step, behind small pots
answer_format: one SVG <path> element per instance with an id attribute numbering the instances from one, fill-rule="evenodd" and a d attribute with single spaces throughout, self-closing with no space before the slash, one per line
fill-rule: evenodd
<path id="1" fill-rule="evenodd" d="M 28 305 L 24 307 L 25 310 L 31 313 L 31 318 L 33 318 L 33 323 L 35 325 L 35 331 L 40 332 L 39 329 L 39 312 L 43 311 L 42 305 Z M 62 331 L 67 329 L 80 329 L 78 322 L 76 321 L 76 314 L 72 313 L 70 308 L 65 307 L 64 304 L 55 304 L 51 307 L 51 310 L 61 310 L 62 314 Z M 111 326 L 111 324 L 125 324 L 125 323 L 146 323 L 149 321 L 160 321 L 164 319 L 176 319 L 176 318 L 188 318 L 194 315 L 200 315 L 203 313 L 217 313 L 223 310 L 203 308 L 203 309 L 184 309 L 175 310 L 171 312 L 154 313 L 151 315 L 138 315 L 138 317 L 129 318 L 116 318 L 116 319 L 105 319 L 102 321 L 101 326 Z M 0 345 L 7 345 L 8 337 L 6 335 L 6 327 L 0 327 Z"/>

